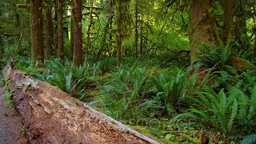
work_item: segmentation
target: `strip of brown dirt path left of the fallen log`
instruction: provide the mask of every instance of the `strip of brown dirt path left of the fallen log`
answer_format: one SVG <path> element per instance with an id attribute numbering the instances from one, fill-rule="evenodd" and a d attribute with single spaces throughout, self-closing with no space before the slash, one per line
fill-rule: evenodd
<path id="1" fill-rule="evenodd" d="M 22 126 L 22 118 L 14 108 L 7 105 L 3 96 L 4 89 L 0 83 L 0 143 L 27 143 Z"/>

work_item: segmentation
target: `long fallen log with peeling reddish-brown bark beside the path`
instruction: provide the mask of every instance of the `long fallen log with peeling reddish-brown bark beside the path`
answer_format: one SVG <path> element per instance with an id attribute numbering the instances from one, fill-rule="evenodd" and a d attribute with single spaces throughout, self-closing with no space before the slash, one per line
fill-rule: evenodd
<path id="1" fill-rule="evenodd" d="M 55 86 L 10 66 L 4 74 L 30 143 L 158 143 Z"/>

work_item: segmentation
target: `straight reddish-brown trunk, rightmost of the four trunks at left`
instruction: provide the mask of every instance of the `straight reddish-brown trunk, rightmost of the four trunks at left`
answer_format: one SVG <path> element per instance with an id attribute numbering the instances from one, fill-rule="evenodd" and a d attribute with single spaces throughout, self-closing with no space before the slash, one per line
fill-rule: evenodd
<path id="1" fill-rule="evenodd" d="M 74 56 L 73 63 L 82 66 L 82 0 L 74 0 Z"/>

